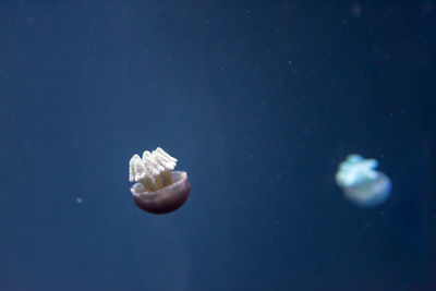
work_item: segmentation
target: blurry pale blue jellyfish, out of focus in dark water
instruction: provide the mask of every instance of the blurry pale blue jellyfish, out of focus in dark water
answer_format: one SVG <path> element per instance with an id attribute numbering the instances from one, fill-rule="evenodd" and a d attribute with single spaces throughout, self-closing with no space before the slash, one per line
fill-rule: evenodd
<path id="1" fill-rule="evenodd" d="M 355 205 L 368 208 L 384 203 L 392 187 L 390 179 L 376 171 L 378 161 L 364 159 L 360 155 L 349 155 L 339 163 L 336 183 L 344 196 Z"/>

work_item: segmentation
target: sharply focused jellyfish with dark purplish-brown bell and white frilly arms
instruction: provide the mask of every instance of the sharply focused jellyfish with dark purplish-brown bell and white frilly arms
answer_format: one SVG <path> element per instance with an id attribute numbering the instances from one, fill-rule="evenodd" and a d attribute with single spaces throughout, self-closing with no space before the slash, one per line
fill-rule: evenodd
<path id="1" fill-rule="evenodd" d="M 177 159 L 157 147 L 145 150 L 143 157 L 134 155 L 130 160 L 130 191 L 136 206 L 150 214 L 169 214 L 179 209 L 191 191 L 184 171 L 172 171 Z"/>

